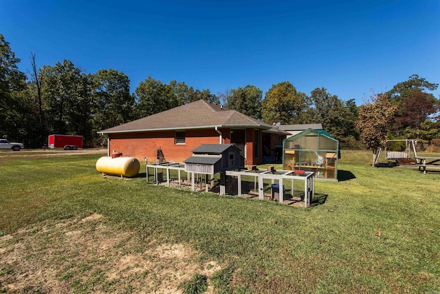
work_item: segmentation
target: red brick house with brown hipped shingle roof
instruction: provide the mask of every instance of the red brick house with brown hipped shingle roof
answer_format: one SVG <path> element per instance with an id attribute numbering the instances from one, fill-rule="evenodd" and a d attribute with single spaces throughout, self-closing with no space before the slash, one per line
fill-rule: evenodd
<path id="1" fill-rule="evenodd" d="M 155 162 L 157 149 L 167 161 L 183 162 L 201 144 L 230 144 L 241 149 L 245 165 L 263 162 L 263 149 L 288 133 L 216 103 L 199 100 L 99 132 L 108 137 L 108 153 L 122 152 Z M 263 146 L 263 137 L 266 138 Z M 272 142 L 273 141 L 273 142 Z"/>

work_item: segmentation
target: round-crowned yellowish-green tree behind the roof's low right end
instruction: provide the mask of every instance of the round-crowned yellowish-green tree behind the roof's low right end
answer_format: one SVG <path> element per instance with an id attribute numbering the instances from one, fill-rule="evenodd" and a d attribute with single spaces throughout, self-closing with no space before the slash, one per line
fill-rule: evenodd
<path id="1" fill-rule="evenodd" d="M 263 107 L 261 116 L 266 123 L 270 124 L 300 123 L 303 119 L 303 112 L 309 106 L 306 95 L 303 92 L 297 92 L 294 85 L 287 81 L 272 85 L 261 104 Z"/>

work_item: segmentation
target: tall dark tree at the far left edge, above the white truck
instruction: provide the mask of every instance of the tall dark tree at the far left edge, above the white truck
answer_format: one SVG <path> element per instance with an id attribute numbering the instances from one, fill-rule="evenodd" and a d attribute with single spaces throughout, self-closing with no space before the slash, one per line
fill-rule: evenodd
<path id="1" fill-rule="evenodd" d="M 0 34 L 0 136 L 10 136 L 19 139 L 17 130 L 17 112 L 21 107 L 14 92 L 25 90 L 26 76 L 19 71 L 17 63 L 20 59 L 15 57 L 10 44 Z M 12 134 L 17 134 L 11 136 Z"/>

